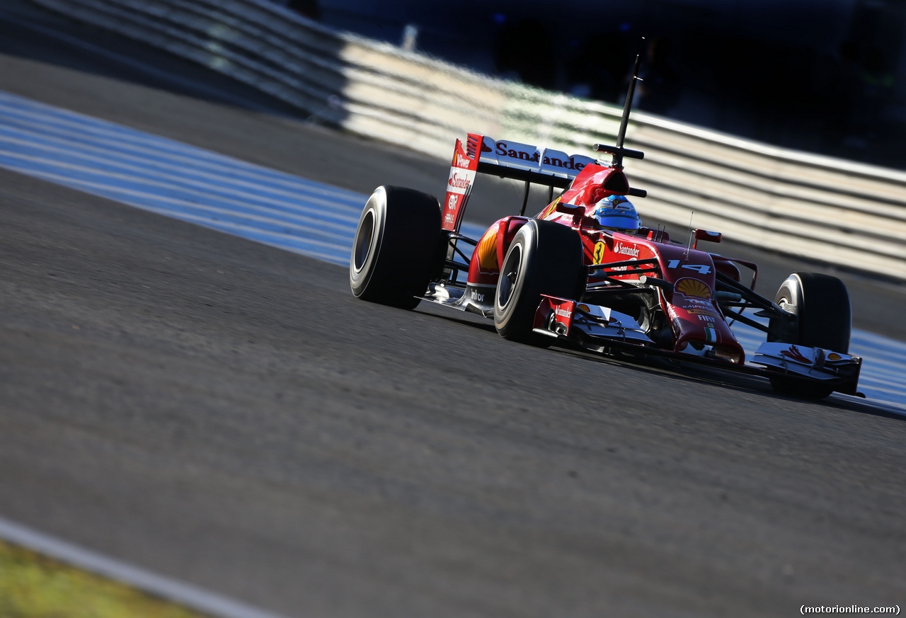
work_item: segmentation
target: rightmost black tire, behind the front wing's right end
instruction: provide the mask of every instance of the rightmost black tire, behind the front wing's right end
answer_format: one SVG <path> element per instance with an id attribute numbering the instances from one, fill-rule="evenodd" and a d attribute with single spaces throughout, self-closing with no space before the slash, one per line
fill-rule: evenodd
<path id="1" fill-rule="evenodd" d="M 788 305 L 795 307 L 797 318 L 794 328 L 785 329 L 772 324 L 769 329 L 774 333 L 789 333 L 783 339 L 785 343 L 849 352 L 853 316 L 849 293 L 840 279 L 818 273 L 793 273 L 780 285 L 774 302 L 781 308 Z M 776 340 L 776 337 L 768 337 L 768 341 Z M 771 387 L 777 392 L 805 399 L 824 399 L 834 391 L 821 384 L 782 376 L 772 377 Z"/>

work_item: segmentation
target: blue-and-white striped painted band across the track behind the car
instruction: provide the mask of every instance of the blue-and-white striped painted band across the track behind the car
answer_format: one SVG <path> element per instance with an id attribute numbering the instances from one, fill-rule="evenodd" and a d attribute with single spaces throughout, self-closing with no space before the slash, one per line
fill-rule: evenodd
<path id="1" fill-rule="evenodd" d="M 347 266 L 367 196 L 0 92 L 0 167 Z M 466 223 L 480 237 L 484 226 Z M 733 331 L 749 358 L 764 341 Z M 853 331 L 860 389 L 906 412 L 906 343 Z"/>

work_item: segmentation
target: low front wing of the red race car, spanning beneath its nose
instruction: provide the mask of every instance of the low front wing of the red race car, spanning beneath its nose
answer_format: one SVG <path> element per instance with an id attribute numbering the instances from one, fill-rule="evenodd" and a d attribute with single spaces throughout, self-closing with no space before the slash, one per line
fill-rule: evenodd
<path id="1" fill-rule="evenodd" d="M 535 333 L 578 344 L 584 350 L 609 353 L 612 350 L 635 351 L 681 361 L 701 362 L 730 371 L 801 381 L 824 381 L 834 391 L 857 395 L 856 387 L 862 358 L 805 347 L 793 343 L 762 343 L 752 363 L 728 362 L 707 351 L 674 352 L 656 347 L 641 326 L 629 315 L 595 304 L 579 303 L 566 298 L 542 295 L 535 312 Z"/>

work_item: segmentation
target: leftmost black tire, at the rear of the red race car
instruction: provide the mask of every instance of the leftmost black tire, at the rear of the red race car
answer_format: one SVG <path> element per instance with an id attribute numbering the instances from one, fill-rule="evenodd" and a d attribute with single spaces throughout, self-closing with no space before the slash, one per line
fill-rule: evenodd
<path id="1" fill-rule="evenodd" d="M 374 189 L 352 241 L 352 294 L 372 303 L 414 309 L 436 270 L 439 239 L 437 198 L 411 188 Z"/>

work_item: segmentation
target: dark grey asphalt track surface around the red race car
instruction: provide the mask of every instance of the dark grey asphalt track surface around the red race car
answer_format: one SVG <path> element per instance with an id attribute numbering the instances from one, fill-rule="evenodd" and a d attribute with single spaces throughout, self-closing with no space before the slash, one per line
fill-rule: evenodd
<path id="1" fill-rule="evenodd" d="M 204 92 L 0 28 L 0 89 L 353 190 L 446 179 L 149 50 L 113 41 Z M 901 290 L 847 284 L 906 339 Z M 361 303 L 341 267 L 5 171 L 0 355 L 0 515 L 275 612 L 906 601 L 899 417 Z"/>

